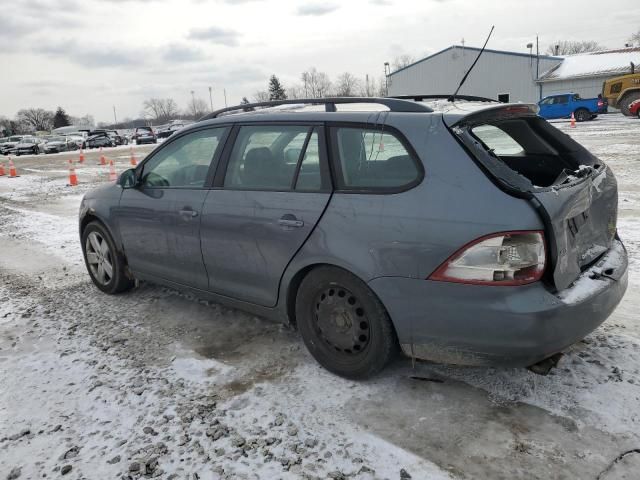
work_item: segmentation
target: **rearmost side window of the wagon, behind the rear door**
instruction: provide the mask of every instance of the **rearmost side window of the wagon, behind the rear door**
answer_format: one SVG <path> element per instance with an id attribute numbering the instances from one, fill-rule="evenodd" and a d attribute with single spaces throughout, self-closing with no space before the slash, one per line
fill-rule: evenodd
<path id="1" fill-rule="evenodd" d="M 343 188 L 400 188 L 419 179 L 416 160 L 400 139 L 382 127 L 335 128 L 338 182 Z"/>

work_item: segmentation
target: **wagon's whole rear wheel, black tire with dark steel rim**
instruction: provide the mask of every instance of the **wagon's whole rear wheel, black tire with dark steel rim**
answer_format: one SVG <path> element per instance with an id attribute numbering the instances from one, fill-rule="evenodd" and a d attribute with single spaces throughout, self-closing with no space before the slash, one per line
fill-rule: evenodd
<path id="1" fill-rule="evenodd" d="M 398 341 L 384 306 L 359 278 L 319 267 L 302 280 L 296 322 L 316 361 L 336 375 L 369 378 L 397 354 Z"/>

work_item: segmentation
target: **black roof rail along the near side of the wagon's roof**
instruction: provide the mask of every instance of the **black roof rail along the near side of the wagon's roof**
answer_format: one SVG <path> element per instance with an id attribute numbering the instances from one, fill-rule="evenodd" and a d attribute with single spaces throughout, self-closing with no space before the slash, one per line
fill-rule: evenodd
<path id="1" fill-rule="evenodd" d="M 223 113 L 233 112 L 236 110 L 248 111 L 249 109 L 259 107 L 278 107 L 280 105 L 324 105 L 325 111 L 335 112 L 336 105 L 348 103 L 378 103 L 389 108 L 392 112 L 422 112 L 429 113 L 433 110 L 426 105 L 409 102 L 407 99 L 400 98 L 382 98 L 382 97 L 327 97 L 327 98 L 300 98 L 295 100 L 271 100 L 269 102 L 245 103 L 234 105 L 233 107 L 221 108 L 200 119 L 211 120 L 218 118 Z"/>

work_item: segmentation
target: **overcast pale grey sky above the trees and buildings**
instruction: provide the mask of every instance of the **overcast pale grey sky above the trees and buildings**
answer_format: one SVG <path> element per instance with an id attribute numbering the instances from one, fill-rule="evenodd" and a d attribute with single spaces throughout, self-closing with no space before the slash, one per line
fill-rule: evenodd
<path id="1" fill-rule="evenodd" d="M 214 107 L 223 88 L 235 104 L 311 66 L 380 77 L 400 54 L 481 46 L 492 24 L 489 48 L 521 52 L 536 34 L 541 51 L 616 48 L 640 29 L 640 0 L 0 0 L 0 12 L 0 115 L 61 105 L 97 121 L 114 105 L 135 117 L 152 96 L 209 102 L 209 86 Z"/>

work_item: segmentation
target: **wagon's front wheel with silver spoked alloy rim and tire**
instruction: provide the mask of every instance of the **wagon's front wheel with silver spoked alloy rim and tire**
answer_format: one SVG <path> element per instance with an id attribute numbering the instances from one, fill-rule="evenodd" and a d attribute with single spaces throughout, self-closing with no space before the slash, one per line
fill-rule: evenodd
<path id="1" fill-rule="evenodd" d="M 82 254 L 93 284 L 104 293 L 113 295 L 133 288 L 134 281 L 127 273 L 125 258 L 101 223 L 94 221 L 85 227 Z M 111 275 L 107 265 L 111 267 Z"/>

